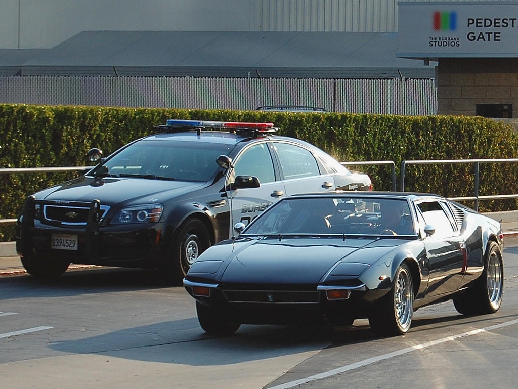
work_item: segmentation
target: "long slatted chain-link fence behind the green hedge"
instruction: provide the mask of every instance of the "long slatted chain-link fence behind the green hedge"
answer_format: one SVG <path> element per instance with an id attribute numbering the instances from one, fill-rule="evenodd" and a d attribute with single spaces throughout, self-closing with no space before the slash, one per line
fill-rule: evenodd
<path id="1" fill-rule="evenodd" d="M 307 105 L 328 111 L 433 115 L 434 80 L 172 77 L 0 77 L 0 102 L 253 110 Z"/>

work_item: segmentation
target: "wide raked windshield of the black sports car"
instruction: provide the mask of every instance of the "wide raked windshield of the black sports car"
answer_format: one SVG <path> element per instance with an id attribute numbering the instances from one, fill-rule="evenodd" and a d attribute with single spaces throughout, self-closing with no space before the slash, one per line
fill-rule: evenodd
<path id="1" fill-rule="evenodd" d="M 266 210 L 243 235 L 415 235 L 405 199 L 286 198 Z"/>

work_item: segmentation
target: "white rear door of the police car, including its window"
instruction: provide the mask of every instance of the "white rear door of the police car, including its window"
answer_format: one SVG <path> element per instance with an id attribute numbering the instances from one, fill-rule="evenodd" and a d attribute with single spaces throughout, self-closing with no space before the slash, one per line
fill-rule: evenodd
<path id="1" fill-rule="evenodd" d="M 327 174 L 306 148 L 288 142 L 273 142 L 286 195 L 335 190 L 333 176 Z"/>

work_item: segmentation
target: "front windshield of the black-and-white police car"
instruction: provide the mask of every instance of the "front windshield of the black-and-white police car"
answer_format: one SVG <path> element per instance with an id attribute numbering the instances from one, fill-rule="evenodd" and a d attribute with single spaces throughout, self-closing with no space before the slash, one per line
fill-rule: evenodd
<path id="1" fill-rule="evenodd" d="M 143 140 L 113 155 L 93 175 L 209 181 L 220 169 L 218 155 L 228 152 L 228 145 L 218 143 Z"/>

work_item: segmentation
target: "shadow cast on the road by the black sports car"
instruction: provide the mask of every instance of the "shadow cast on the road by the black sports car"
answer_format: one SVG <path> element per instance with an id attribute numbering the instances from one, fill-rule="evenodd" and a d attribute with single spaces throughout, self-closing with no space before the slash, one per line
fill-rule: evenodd
<path id="1" fill-rule="evenodd" d="M 404 337 L 391 338 L 399 342 L 419 342 L 421 335 L 433 330 L 441 336 L 463 333 L 487 325 L 496 315 L 446 316 L 417 318 Z M 515 314 L 499 315 L 499 320 L 516 319 Z M 439 326 L 437 324 L 440 324 Z M 468 329 L 466 329 L 468 328 Z M 272 326 L 243 325 L 236 334 L 213 337 L 204 334 L 195 318 L 127 328 L 96 337 L 61 341 L 49 345 L 53 350 L 67 353 L 95 353 L 146 362 L 217 366 L 238 364 L 263 358 L 307 351 L 320 351 L 361 343 L 381 341 L 370 329 L 367 320 L 357 320 L 353 326 Z M 390 343 L 389 343 L 390 344 Z"/>

